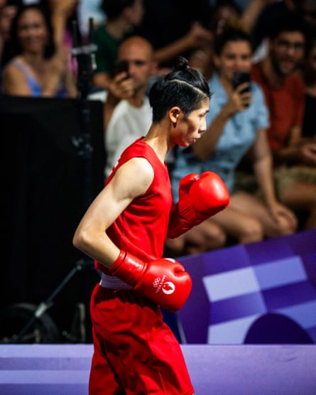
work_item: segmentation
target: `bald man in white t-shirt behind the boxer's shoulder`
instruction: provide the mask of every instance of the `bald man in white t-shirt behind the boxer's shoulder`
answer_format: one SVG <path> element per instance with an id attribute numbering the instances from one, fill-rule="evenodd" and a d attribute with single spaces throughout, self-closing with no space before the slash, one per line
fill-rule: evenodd
<path id="1" fill-rule="evenodd" d="M 126 64 L 125 77 L 133 86 L 133 94 L 116 104 L 104 130 L 106 178 L 124 149 L 144 136 L 152 121 L 151 106 L 146 96 L 149 80 L 156 70 L 151 43 L 139 36 L 127 38 L 119 47 L 117 61 L 118 65 Z"/>

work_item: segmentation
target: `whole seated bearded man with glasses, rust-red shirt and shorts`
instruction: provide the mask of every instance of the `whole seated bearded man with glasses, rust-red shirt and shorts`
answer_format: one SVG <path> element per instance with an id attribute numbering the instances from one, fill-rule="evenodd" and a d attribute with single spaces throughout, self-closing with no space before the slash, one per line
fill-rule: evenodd
<path id="1" fill-rule="evenodd" d="M 297 14 L 274 21 L 266 58 L 252 67 L 269 110 L 268 142 L 280 202 L 300 215 L 302 227 L 316 227 L 316 144 L 302 138 L 305 86 L 298 70 L 305 57 L 307 34 Z M 301 215 L 302 217 L 302 215 Z"/>

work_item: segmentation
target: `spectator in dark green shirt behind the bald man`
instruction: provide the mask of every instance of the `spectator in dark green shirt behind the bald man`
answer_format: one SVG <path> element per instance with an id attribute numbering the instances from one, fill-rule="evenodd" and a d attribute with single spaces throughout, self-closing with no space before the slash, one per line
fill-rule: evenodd
<path id="1" fill-rule="evenodd" d="M 97 69 L 92 82 L 97 87 L 108 89 L 114 76 L 119 44 L 131 35 L 134 26 L 143 18 L 143 0 L 103 0 L 102 10 L 107 21 L 94 32 L 94 43 L 98 48 Z"/>

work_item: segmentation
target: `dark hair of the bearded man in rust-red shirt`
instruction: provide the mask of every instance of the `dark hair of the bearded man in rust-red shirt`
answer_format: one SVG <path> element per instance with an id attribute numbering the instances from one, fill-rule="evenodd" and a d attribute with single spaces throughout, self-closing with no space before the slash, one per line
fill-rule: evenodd
<path id="1" fill-rule="evenodd" d="M 299 31 L 307 37 L 307 30 L 305 28 L 303 19 L 297 13 L 287 12 L 273 18 L 270 27 L 268 28 L 267 36 L 273 40 L 280 33 Z"/>

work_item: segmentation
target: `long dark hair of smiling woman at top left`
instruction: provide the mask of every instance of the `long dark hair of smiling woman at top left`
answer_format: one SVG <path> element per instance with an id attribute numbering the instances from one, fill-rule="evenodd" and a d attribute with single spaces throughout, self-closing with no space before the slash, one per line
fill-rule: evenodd
<path id="1" fill-rule="evenodd" d="M 22 6 L 20 9 L 18 9 L 16 16 L 13 18 L 13 21 L 11 23 L 11 33 L 10 33 L 10 39 L 8 42 L 8 48 L 9 48 L 9 53 L 10 53 L 10 58 L 13 58 L 13 56 L 19 55 L 22 53 L 22 48 L 21 44 L 18 40 L 18 21 L 20 20 L 21 16 L 23 15 L 24 12 L 28 10 L 37 10 L 39 11 L 44 18 L 45 25 L 48 29 L 48 43 L 45 45 L 45 50 L 44 50 L 44 57 L 46 59 L 51 58 L 53 54 L 55 53 L 55 43 L 53 39 L 53 26 L 50 23 L 50 17 L 48 16 L 48 13 L 46 12 L 45 8 L 38 4 L 29 4 L 26 6 Z"/>

